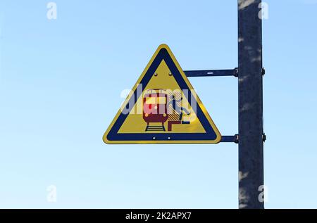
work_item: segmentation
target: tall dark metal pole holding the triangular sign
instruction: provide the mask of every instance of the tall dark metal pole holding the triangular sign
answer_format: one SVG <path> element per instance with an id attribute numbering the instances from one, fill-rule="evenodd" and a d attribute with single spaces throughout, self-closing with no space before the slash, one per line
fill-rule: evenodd
<path id="1" fill-rule="evenodd" d="M 264 208 L 261 0 L 238 0 L 239 208 Z"/>

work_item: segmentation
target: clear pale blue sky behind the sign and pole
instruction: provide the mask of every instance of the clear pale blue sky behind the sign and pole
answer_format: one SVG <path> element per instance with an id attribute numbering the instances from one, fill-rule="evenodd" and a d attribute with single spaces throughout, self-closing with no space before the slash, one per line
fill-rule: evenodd
<path id="1" fill-rule="evenodd" d="M 56 0 L 56 20 L 0 2 L 0 208 L 238 208 L 237 144 L 101 140 L 159 44 L 184 70 L 237 66 L 237 1 Z M 317 1 L 266 2 L 265 205 L 317 208 Z M 237 79 L 189 80 L 236 134 Z"/>

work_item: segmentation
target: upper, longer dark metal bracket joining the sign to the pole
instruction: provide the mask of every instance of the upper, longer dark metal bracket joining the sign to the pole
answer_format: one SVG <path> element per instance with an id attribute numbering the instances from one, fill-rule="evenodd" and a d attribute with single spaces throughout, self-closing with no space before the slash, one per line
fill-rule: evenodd
<path id="1" fill-rule="evenodd" d="M 238 77 L 238 68 L 230 70 L 184 70 L 187 77 Z"/>

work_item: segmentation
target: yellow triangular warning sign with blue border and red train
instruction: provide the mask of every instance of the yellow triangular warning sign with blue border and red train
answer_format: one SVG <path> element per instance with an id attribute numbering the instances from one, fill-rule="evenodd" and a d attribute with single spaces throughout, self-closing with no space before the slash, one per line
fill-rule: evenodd
<path id="1" fill-rule="evenodd" d="M 106 144 L 216 144 L 220 132 L 165 44 L 104 134 Z"/>

